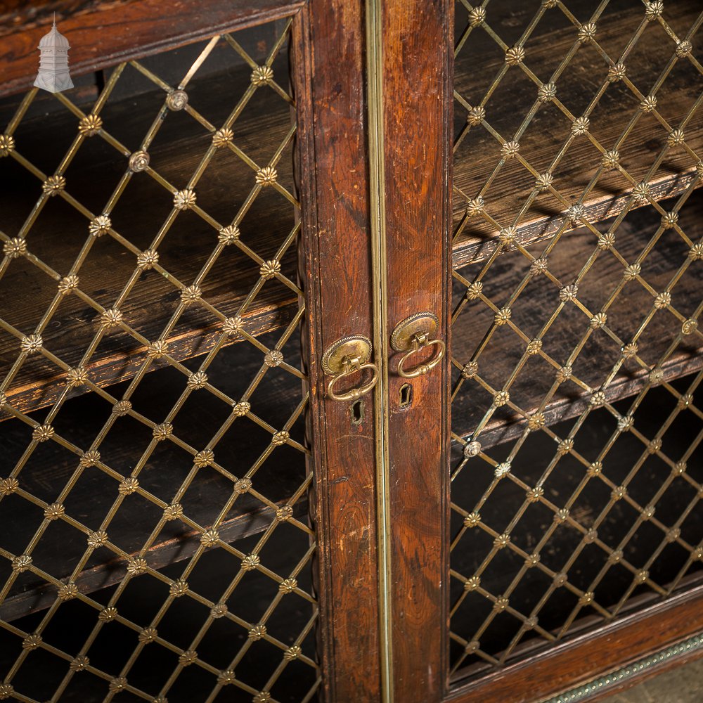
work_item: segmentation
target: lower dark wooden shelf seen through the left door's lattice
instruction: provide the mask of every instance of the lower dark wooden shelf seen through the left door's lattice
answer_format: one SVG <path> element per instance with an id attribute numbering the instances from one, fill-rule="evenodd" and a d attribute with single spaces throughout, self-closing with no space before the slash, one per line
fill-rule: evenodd
<path id="1" fill-rule="evenodd" d="M 296 363 L 295 349 L 285 349 L 291 363 Z M 223 349 L 208 369 L 210 382 L 227 394 L 240 397 L 262 366 L 262 356 L 250 344 Z M 185 387 L 185 379 L 173 369 L 159 370 L 141 380 L 132 405 L 136 412 L 158 421 Z M 115 387 L 119 392 L 120 387 Z M 288 415 L 301 399 L 299 380 L 280 368 L 268 370 L 252 395 L 252 412 L 275 428 L 285 425 Z M 86 394 L 67 401 L 53 425 L 56 432 L 76 446 L 89 446 L 105 420 L 110 404 L 97 394 Z M 202 448 L 212 440 L 222 423 L 231 417 L 231 407 L 203 389 L 186 401 L 174 419 L 174 435 L 189 446 Z M 7 475 L 25 451 L 31 428 L 19 420 L 9 420 L 3 428 L 1 475 Z M 290 430 L 292 439 L 302 442 L 302 420 Z M 129 416 L 117 418 L 101 444 L 101 460 L 111 470 L 128 476 L 148 446 L 151 432 Z M 271 442 L 271 434 L 248 418 L 237 418 L 214 447 L 215 460 L 234 477 L 242 477 L 254 465 Z M 19 474 L 20 489 L 40 501 L 53 503 L 78 465 L 77 456 L 54 441 L 37 446 Z M 169 504 L 175 491 L 193 467 L 193 456 L 172 442 L 157 448 L 138 474 L 141 489 Z M 278 446 L 254 474 L 253 491 L 269 502 L 245 493 L 238 496 L 226 518 L 218 527 L 220 538 L 234 543 L 257 534 L 275 520 L 276 507 L 285 505 L 304 482 L 305 460 L 298 449 Z M 119 477 L 92 467 L 84 470 L 65 499 L 66 515 L 89 529 L 99 529 L 110 506 L 118 497 Z M 184 514 L 207 528 L 233 495 L 233 479 L 214 467 L 203 467 L 180 499 Z M 108 527 L 110 541 L 125 553 L 141 550 L 162 516 L 162 509 L 139 492 L 124 497 Z M 307 523 L 307 494 L 294 505 L 294 516 Z M 43 510 L 18 494 L 0 501 L 0 546 L 11 553 L 22 553 L 34 530 L 44 518 Z M 280 529 L 297 528 L 281 525 Z M 181 520 L 165 522 L 146 560 L 153 569 L 187 559 L 200 546 L 200 533 Z M 86 549 L 86 534 L 64 520 L 51 522 L 33 552 L 34 565 L 67 580 Z M 1 560 L 0 581 L 10 574 L 6 560 Z M 108 548 L 99 548 L 74 579 L 83 593 L 96 591 L 120 581 L 127 561 Z M 27 572 L 20 575 L 13 591 L 0 605 L 0 619 L 11 620 L 49 607 L 56 598 L 56 587 Z"/>

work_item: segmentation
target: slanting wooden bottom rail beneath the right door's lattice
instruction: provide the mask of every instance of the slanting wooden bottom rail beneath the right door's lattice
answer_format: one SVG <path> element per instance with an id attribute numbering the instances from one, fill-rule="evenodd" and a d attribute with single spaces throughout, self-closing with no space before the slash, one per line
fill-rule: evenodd
<path id="1" fill-rule="evenodd" d="M 703 586 L 644 607 L 538 657 L 505 666 L 481 681 L 456 685 L 446 701 L 527 703 L 617 671 L 703 630 Z"/>

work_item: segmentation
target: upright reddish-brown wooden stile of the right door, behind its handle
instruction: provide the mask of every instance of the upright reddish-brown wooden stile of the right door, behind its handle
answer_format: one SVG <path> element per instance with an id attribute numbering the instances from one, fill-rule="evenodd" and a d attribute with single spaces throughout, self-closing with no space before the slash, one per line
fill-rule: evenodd
<path id="1" fill-rule="evenodd" d="M 438 337 L 448 339 L 452 8 L 450 1 L 382 5 L 387 337 L 406 317 L 427 311 L 440 320 Z M 412 402 L 401 407 L 406 379 L 397 373 L 400 354 L 391 354 L 393 692 L 409 703 L 438 700 L 446 685 L 449 373 L 445 359 L 410 380 Z"/>

